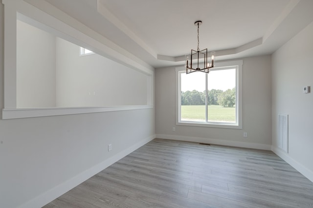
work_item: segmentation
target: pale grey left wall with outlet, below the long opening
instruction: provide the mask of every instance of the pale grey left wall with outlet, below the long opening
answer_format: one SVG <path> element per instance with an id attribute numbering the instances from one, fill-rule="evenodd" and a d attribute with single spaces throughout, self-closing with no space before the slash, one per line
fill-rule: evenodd
<path id="1" fill-rule="evenodd" d="M 0 63 L 3 63 L 0 4 Z M 3 102 L 0 64 L 0 108 Z M 0 207 L 41 207 L 154 138 L 154 109 L 0 120 Z M 113 150 L 108 152 L 107 146 Z"/>

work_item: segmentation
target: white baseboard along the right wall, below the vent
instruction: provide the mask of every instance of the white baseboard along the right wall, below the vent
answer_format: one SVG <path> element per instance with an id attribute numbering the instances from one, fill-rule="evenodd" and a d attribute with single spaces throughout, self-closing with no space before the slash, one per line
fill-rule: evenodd
<path id="1" fill-rule="evenodd" d="M 308 178 L 310 181 L 313 182 L 313 171 L 307 169 L 294 159 L 292 159 L 288 153 L 285 151 L 280 150 L 277 147 L 272 146 L 272 151 L 277 154 L 279 157 L 281 157 L 283 160 L 285 160 L 289 165 L 291 165 L 295 170 L 298 170 L 302 175 L 304 175 L 306 178 Z"/>

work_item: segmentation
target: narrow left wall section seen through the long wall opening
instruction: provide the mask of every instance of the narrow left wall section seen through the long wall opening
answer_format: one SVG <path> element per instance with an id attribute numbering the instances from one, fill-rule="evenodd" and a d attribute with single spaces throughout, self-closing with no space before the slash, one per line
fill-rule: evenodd
<path id="1" fill-rule="evenodd" d="M 17 20 L 17 107 L 55 107 L 55 36 Z"/>

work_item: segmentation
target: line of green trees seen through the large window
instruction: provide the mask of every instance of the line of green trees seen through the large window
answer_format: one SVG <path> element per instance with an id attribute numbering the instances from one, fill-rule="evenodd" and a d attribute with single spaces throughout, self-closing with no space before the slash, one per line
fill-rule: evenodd
<path id="1" fill-rule="evenodd" d="M 181 105 L 205 105 L 205 91 L 196 90 L 181 92 Z M 236 104 L 236 90 L 209 90 L 207 91 L 208 105 L 221 105 L 223 107 L 234 107 Z"/>

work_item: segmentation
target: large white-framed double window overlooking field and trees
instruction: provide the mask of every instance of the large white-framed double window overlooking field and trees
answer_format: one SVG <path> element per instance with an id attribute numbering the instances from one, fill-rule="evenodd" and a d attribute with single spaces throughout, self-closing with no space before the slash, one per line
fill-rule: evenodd
<path id="1" fill-rule="evenodd" d="M 209 74 L 177 68 L 177 124 L 242 128 L 242 61 L 217 63 Z"/>

